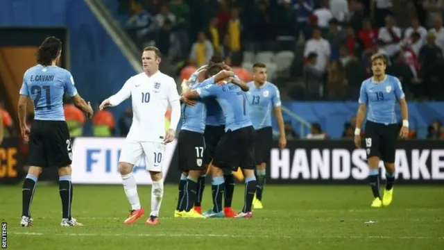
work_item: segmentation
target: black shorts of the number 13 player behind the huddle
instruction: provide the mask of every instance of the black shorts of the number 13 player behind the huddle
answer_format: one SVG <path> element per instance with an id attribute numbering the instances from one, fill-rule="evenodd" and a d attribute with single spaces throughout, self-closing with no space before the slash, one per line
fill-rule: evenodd
<path id="1" fill-rule="evenodd" d="M 273 128 L 259 128 L 256 131 L 255 163 L 268 163 L 270 160 L 271 144 L 273 143 Z"/>

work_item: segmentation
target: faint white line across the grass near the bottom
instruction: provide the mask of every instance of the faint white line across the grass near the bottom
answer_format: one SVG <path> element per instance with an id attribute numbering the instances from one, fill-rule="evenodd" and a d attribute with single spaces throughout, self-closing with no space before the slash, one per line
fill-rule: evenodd
<path id="1" fill-rule="evenodd" d="M 195 237 L 195 238 L 286 238 L 286 239 L 397 239 L 397 240 L 444 240 L 444 237 L 426 237 L 426 236 L 382 236 L 382 235 L 319 235 L 319 236 L 288 236 L 288 235 L 228 235 L 228 234 L 193 234 L 193 233 L 28 233 L 28 232 L 10 232 L 12 235 L 57 235 L 57 236 L 84 236 L 84 237 Z"/>

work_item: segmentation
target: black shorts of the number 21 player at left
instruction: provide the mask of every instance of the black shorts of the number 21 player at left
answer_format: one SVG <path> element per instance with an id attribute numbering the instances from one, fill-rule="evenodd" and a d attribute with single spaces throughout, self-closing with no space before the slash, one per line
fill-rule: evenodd
<path id="1" fill-rule="evenodd" d="M 29 136 L 28 165 L 66 167 L 72 163 L 72 145 L 65 121 L 34 120 Z"/>

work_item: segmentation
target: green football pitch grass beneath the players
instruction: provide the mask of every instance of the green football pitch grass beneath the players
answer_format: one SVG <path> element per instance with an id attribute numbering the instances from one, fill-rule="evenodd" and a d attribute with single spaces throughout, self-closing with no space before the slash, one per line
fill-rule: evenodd
<path id="1" fill-rule="evenodd" d="M 207 185 L 203 208 L 210 191 Z M 243 194 L 237 184 L 235 210 Z M 151 187 L 139 186 L 146 215 L 127 226 L 121 186 L 75 185 L 72 212 L 85 226 L 65 228 L 58 186 L 37 184 L 34 226 L 22 228 L 22 188 L 2 186 L 0 218 L 8 222 L 8 249 L 444 249 L 443 186 L 395 185 L 391 206 L 370 208 L 366 185 L 268 185 L 252 219 L 173 218 L 177 195 L 176 185 L 166 185 L 160 224 L 146 226 Z"/>

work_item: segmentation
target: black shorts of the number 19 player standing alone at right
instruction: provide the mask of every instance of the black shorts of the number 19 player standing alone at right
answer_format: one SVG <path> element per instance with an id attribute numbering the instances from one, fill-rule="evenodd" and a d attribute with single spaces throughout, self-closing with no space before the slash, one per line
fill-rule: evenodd
<path id="1" fill-rule="evenodd" d="M 398 124 L 385 125 L 367 121 L 364 135 L 367 158 L 377 156 L 384 163 L 395 163 L 398 133 Z"/>

